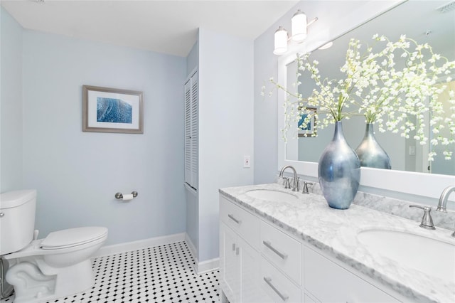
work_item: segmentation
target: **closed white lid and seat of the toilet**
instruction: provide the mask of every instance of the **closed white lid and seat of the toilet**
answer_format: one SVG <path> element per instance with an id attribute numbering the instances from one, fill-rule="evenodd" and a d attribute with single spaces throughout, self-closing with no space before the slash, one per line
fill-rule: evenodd
<path id="1" fill-rule="evenodd" d="M 107 228 L 105 227 L 70 228 L 49 233 L 40 246 L 44 250 L 70 248 L 98 240 L 106 235 Z"/>

